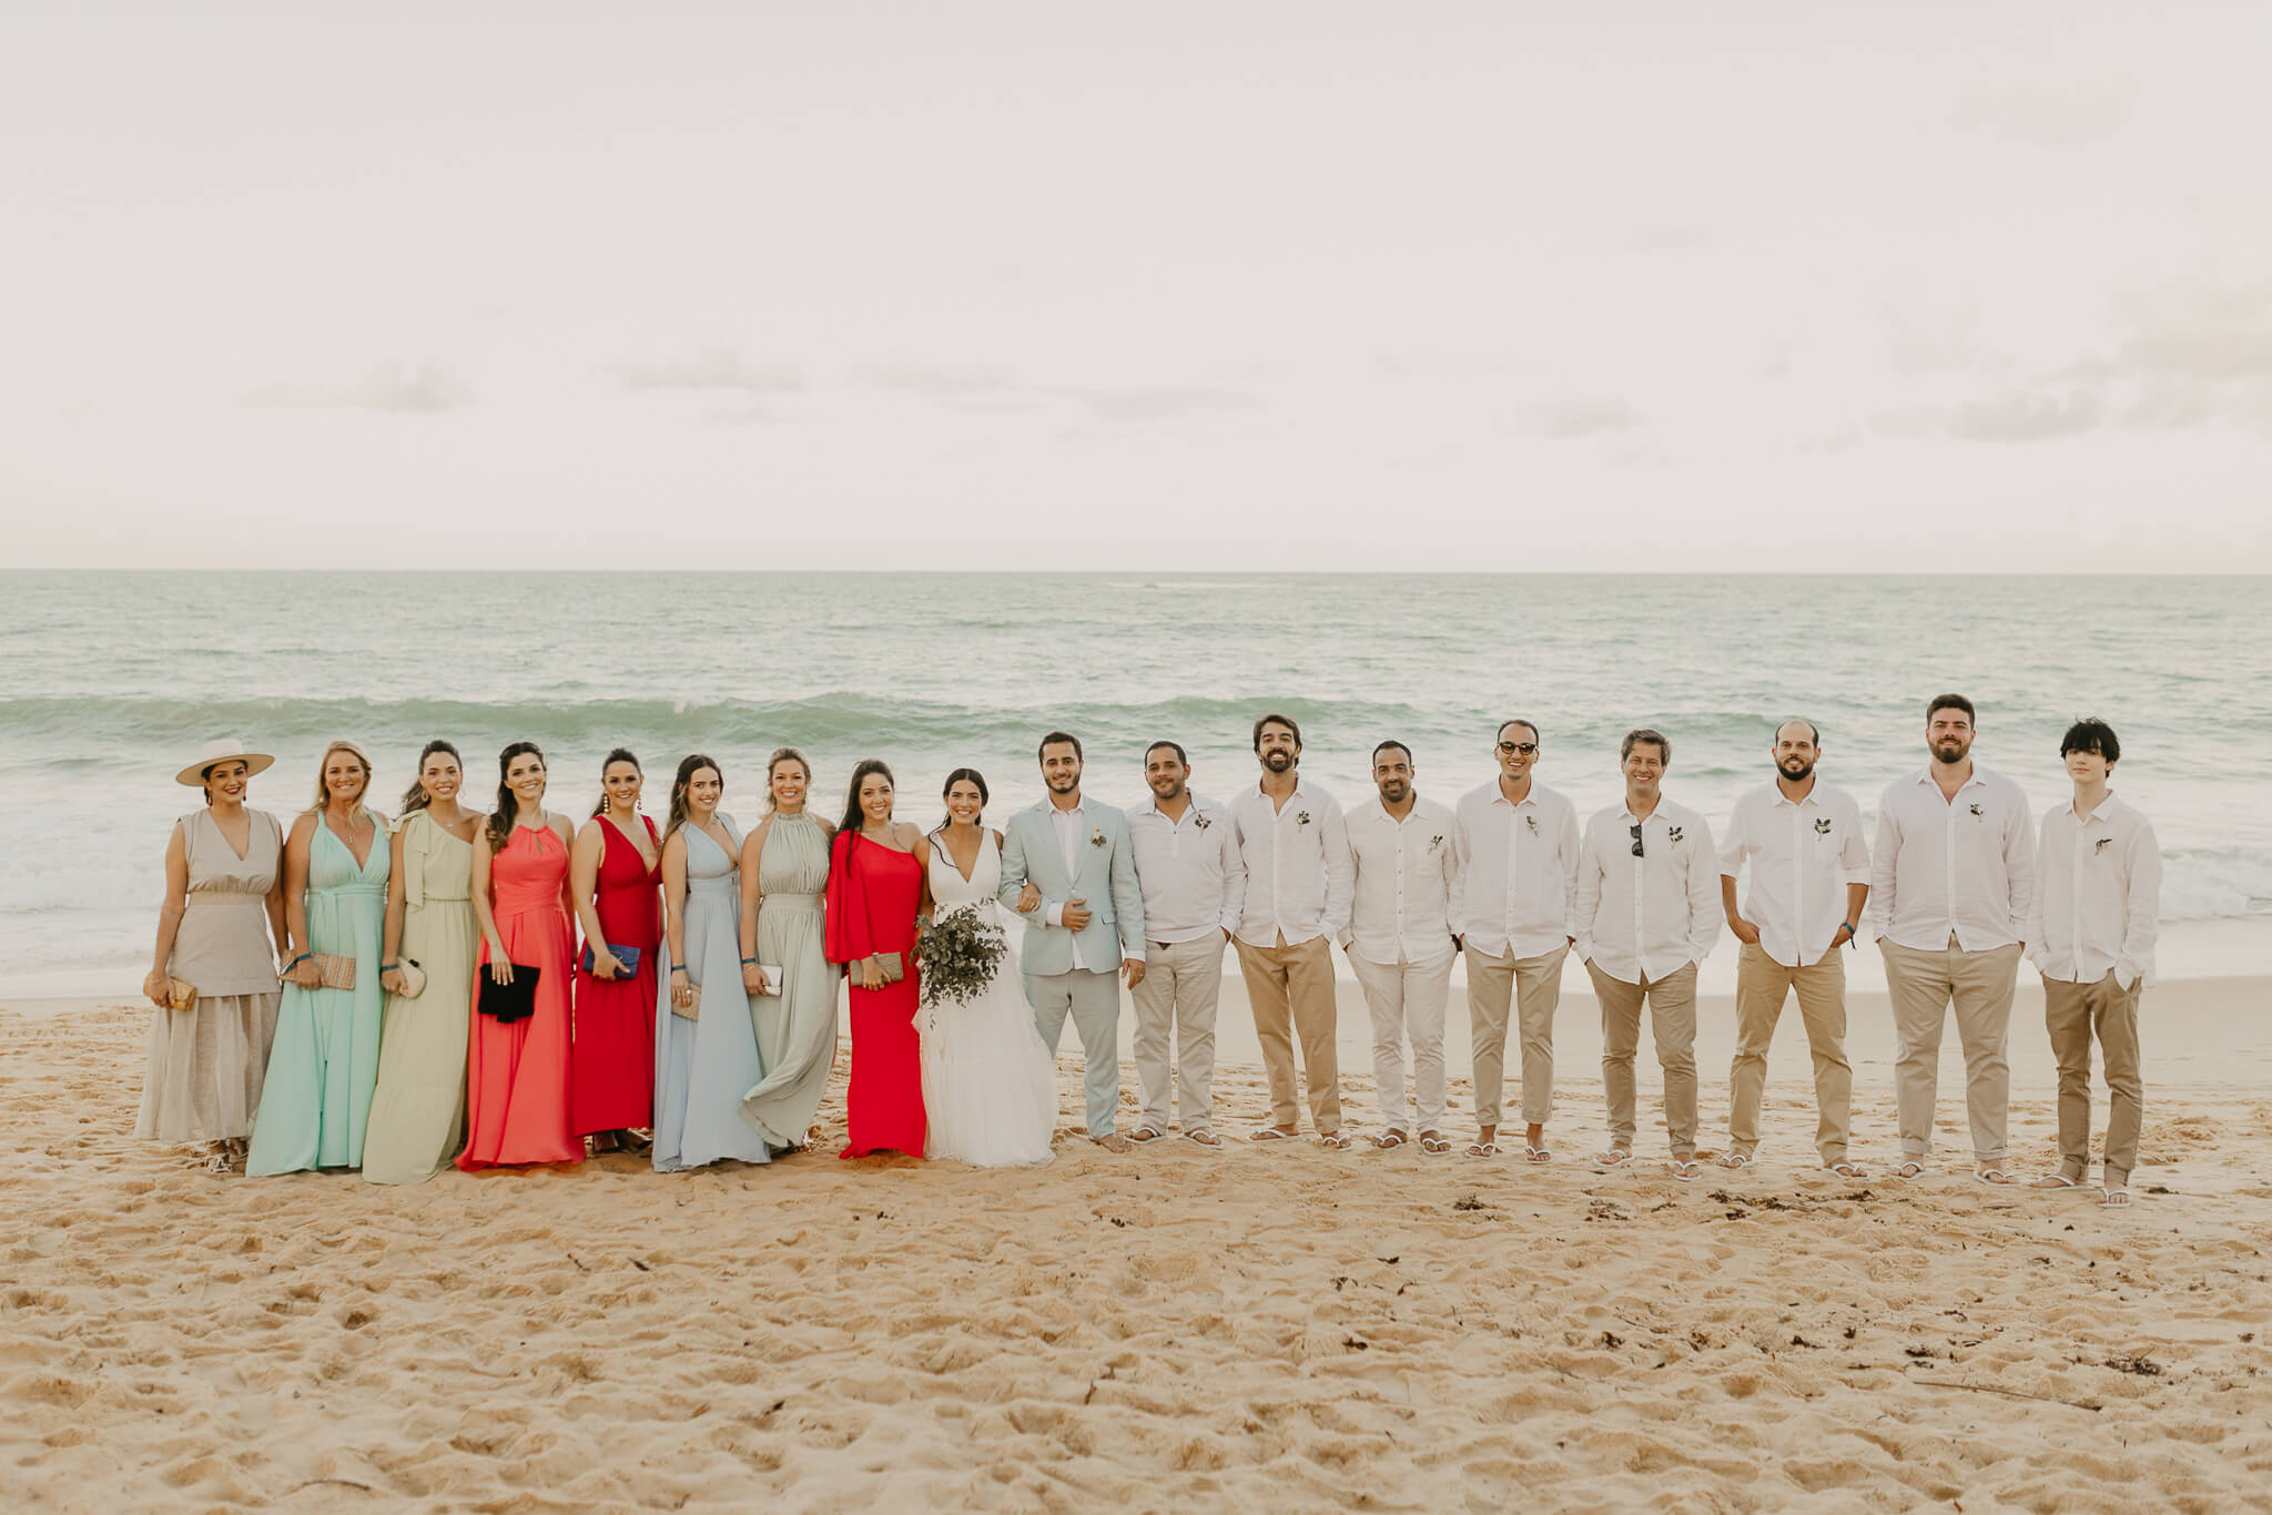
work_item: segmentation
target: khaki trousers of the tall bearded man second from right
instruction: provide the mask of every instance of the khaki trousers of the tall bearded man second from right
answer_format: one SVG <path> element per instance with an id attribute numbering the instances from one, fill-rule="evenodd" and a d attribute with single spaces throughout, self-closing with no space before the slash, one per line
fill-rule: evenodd
<path id="1" fill-rule="evenodd" d="M 1893 1104 L 1902 1129 L 1902 1156 L 1922 1158 L 1933 1149 L 1933 1102 L 1940 1097 L 1940 1031 L 1956 1006 L 1956 1038 L 1965 1049 L 1965 1113 L 1972 1120 L 1972 1156 L 1993 1163 L 2004 1156 L 2004 1120 L 2011 1113 L 2011 990 L 2020 974 L 2020 943 L 1965 952 L 1949 934 L 1947 947 L 1918 949 L 1879 940 L 1886 956 L 1886 988 L 1893 995 Z"/>

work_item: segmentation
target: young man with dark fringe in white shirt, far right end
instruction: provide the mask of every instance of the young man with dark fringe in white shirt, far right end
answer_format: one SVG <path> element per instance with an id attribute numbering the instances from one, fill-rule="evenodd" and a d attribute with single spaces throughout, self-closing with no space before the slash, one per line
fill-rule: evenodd
<path id="1" fill-rule="evenodd" d="M 2090 1172 L 2090 1036 L 2106 1058 L 2106 1186 L 2102 1204 L 2127 1206 L 2138 1163 L 2145 1086 L 2138 1077 L 2138 995 L 2154 981 L 2161 934 L 2161 843 L 2154 822 L 2115 800 L 2106 781 L 2122 740 L 2083 718 L 2058 738 L 2074 781 L 2068 804 L 2043 813 L 2036 899 L 2027 918 L 2043 972 L 2043 1024 L 2058 1058 L 2058 1172 L 2036 1188 L 2081 1188 Z"/>

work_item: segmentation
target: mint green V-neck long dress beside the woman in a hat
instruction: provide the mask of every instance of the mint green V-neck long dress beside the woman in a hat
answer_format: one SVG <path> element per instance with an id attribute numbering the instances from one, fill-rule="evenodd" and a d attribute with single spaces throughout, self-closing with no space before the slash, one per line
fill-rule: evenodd
<path id="1" fill-rule="evenodd" d="M 307 949 L 354 959 L 354 988 L 286 979 L 245 1174 L 361 1167 L 370 1090 L 379 1079 L 379 947 L 386 931 L 386 827 L 361 865 L 332 827 L 307 849 Z"/>

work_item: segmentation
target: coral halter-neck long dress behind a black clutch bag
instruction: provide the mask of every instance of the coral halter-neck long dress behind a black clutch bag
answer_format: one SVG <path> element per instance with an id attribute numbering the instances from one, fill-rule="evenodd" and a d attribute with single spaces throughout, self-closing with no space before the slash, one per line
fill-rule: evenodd
<path id="1" fill-rule="evenodd" d="M 486 838 L 475 838 L 486 847 Z M 550 827 L 513 827 L 488 861 L 498 936 L 511 963 L 541 970 L 536 1013 L 500 1022 L 482 1013 L 488 943 L 475 965 L 473 1036 L 466 1049 L 466 1172 L 507 1163 L 582 1163 L 584 1138 L 568 1120 L 568 847 Z"/>

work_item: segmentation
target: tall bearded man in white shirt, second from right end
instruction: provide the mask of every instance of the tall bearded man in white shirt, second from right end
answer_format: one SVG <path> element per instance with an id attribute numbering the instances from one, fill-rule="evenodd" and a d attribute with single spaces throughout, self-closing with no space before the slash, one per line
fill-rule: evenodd
<path id="1" fill-rule="evenodd" d="M 1886 956 L 1899 1047 L 1893 1102 L 1902 1165 L 1895 1179 L 1931 1172 L 1924 1158 L 1933 1149 L 1940 1031 L 1954 1004 L 1965 1049 L 1972 1172 L 1981 1183 L 2018 1183 L 2004 1172 L 2011 1106 L 2004 1052 L 2027 911 L 2036 899 L 2036 847 L 2020 786 L 1972 765 L 1974 722 L 1970 700 L 1933 695 L 1924 706 L 1931 761 L 1888 784 L 1877 802 L 1870 934 Z"/>

